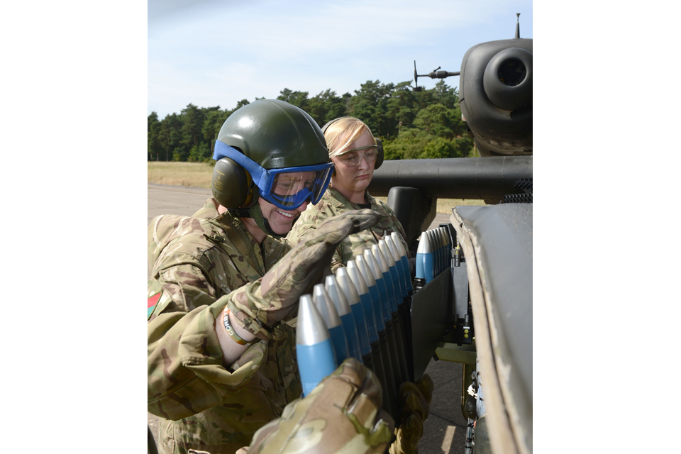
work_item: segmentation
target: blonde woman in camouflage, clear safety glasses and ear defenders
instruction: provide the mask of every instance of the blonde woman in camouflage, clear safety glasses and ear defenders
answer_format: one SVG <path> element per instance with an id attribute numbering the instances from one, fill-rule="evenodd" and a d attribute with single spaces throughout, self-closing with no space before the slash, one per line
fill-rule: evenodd
<path id="1" fill-rule="evenodd" d="M 309 206 L 294 224 L 287 240 L 297 243 L 326 218 L 348 210 L 371 209 L 380 214 L 376 226 L 345 238 L 333 255 L 331 270 L 345 266 L 355 255 L 361 255 L 378 240 L 392 232 L 399 233 L 404 250 L 409 254 L 406 233 L 392 209 L 372 197 L 366 188 L 371 182 L 374 168 L 383 162 L 380 140 L 374 138 L 368 126 L 358 118 L 336 118 L 323 128 L 329 157 L 336 165 L 328 191 L 318 204 Z M 379 148 L 380 147 L 380 148 Z"/>

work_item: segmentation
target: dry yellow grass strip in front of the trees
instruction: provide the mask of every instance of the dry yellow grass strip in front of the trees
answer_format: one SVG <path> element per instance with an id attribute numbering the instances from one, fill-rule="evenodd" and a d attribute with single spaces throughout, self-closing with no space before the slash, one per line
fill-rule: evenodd
<path id="1" fill-rule="evenodd" d="M 198 162 L 147 162 L 147 182 L 210 189 L 213 167 Z M 387 201 L 387 197 L 378 197 Z M 477 199 L 438 199 L 438 213 L 451 213 L 455 206 L 485 205 Z"/>

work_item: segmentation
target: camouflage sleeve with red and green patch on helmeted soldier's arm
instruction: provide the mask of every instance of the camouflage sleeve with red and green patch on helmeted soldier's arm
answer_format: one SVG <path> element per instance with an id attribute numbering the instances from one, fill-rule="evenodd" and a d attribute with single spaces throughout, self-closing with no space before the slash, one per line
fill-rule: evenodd
<path id="1" fill-rule="evenodd" d="M 227 297 L 210 297 L 197 267 L 172 267 L 162 276 L 148 284 L 154 304 L 147 333 L 148 411 L 177 420 L 221 404 L 243 387 L 262 363 L 265 342 L 245 351 L 237 360 L 242 367 L 227 370 L 214 329 Z"/>

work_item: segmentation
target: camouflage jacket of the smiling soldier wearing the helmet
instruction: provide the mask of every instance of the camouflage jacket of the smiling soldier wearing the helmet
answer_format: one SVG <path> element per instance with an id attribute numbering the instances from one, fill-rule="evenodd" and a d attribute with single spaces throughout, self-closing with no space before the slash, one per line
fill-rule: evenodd
<path id="1" fill-rule="evenodd" d="M 233 453 L 300 397 L 291 326 L 278 323 L 272 339 L 227 369 L 213 328 L 227 302 L 235 304 L 232 291 L 289 249 L 269 236 L 258 245 L 238 218 L 218 215 L 213 199 L 192 217 L 150 224 L 148 411 L 160 417 L 161 453 Z"/>

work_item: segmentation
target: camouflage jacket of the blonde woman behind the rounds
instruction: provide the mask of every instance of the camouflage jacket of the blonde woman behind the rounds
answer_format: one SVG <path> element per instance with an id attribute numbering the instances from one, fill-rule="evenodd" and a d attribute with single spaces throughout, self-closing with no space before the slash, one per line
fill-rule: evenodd
<path id="1" fill-rule="evenodd" d="M 365 231 L 348 236 L 338 245 L 338 249 L 331 259 L 331 271 L 334 273 L 338 267 L 344 266 L 348 263 L 348 260 L 352 260 L 355 255 L 359 255 L 363 250 L 378 244 L 378 240 L 392 232 L 399 233 L 404 249 L 409 253 L 405 240 L 406 233 L 404 233 L 404 228 L 402 228 L 402 224 L 399 223 L 392 209 L 384 202 L 370 196 L 368 192 L 366 197 L 371 205 L 370 209 L 381 215 L 380 221 L 372 228 L 367 228 Z M 286 239 L 291 243 L 298 243 L 310 231 L 317 228 L 324 219 L 336 216 L 343 213 L 343 211 L 358 209 L 361 209 L 358 204 L 353 204 L 353 202 L 345 199 L 336 189 L 329 187 L 318 204 L 310 205 L 303 211 L 303 214 L 294 224 Z"/>

